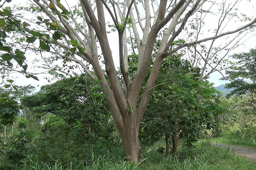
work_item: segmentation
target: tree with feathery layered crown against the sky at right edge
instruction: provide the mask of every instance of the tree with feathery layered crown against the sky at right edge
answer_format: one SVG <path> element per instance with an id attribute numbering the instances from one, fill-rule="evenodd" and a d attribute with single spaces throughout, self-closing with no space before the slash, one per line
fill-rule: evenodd
<path id="1" fill-rule="evenodd" d="M 235 88 L 228 94 L 228 97 L 234 94 L 246 94 L 248 92 L 256 93 L 256 49 L 251 49 L 248 53 L 234 54 L 231 56 L 231 66 L 226 70 L 228 76 L 225 79 L 230 80 L 226 83 L 226 88 Z"/>

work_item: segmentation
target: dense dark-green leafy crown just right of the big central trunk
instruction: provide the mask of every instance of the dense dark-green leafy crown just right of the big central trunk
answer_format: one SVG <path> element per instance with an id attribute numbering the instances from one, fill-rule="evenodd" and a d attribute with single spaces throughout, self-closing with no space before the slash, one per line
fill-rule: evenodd
<path id="1" fill-rule="evenodd" d="M 192 147 L 204 128 L 215 127 L 217 91 L 207 81 L 197 81 L 199 72 L 179 56 L 163 61 L 152 98 L 141 125 L 141 138 L 152 143 L 164 135 L 180 133 Z"/>

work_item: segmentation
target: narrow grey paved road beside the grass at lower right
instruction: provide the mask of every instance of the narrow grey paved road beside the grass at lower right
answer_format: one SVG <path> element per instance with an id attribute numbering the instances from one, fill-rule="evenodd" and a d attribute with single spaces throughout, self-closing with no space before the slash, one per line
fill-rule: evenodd
<path id="1" fill-rule="evenodd" d="M 248 159 L 251 159 L 252 161 L 256 161 L 256 149 L 254 148 L 247 148 L 247 147 L 241 147 L 241 146 L 234 146 L 234 145 L 228 145 L 228 144 L 216 144 L 212 143 L 212 145 L 218 146 L 220 148 L 228 148 L 230 150 L 233 150 L 241 156 L 245 156 Z"/>

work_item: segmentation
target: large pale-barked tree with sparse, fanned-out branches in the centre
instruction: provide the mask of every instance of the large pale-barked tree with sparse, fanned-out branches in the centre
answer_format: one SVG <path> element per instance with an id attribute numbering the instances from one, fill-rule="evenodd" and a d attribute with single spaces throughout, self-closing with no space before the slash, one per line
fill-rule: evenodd
<path id="1" fill-rule="evenodd" d="M 65 62 L 76 62 L 92 79 L 99 80 L 116 128 L 124 142 L 124 152 L 128 161 L 138 161 L 139 126 L 162 60 L 181 48 L 241 31 L 256 22 L 256 19 L 253 19 L 233 31 L 174 43 L 180 39 L 182 33 L 185 34 L 185 25 L 189 24 L 188 20 L 192 15 L 209 11 L 215 3 L 207 0 L 159 0 L 157 3 L 149 0 L 96 0 L 95 2 L 80 0 L 79 6 L 71 11 L 70 8 L 66 8 L 69 7 L 68 5 L 61 4 L 59 0 L 32 0 L 31 2 L 36 7 L 25 9 L 31 9 L 33 13 L 38 12 L 37 17 L 34 18 L 38 19 L 36 22 L 38 26 L 32 30 L 29 28 L 35 23 L 23 23 L 23 27 L 17 28 L 27 38 L 28 44 L 25 47 L 40 52 L 50 52 L 58 58 L 63 58 Z M 116 36 L 112 36 L 111 40 L 116 38 L 118 41 L 119 64 L 124 88 L 114 65 L 117 56 L 114 56 L 112 50 L 116 49 L 116 43 L 112 46 L 108 39 L 110 30 L 106 24 L 113 26 L 116 30 Z M 162 31 L 163 37 L 158 42 L 159 48 L 154 51 L 156 37 Z M 133 76 L 128 75 L 127 39 L 129 36 L 134 37 L 131 46 L 138 54 L 138 67 Z M 39 48 L 35 41 L 38 41 Z M 144 88 L 145 93 L 139 96 L 152 59 L 152 51 L 155 52 L 153 54 L 155 60 L 151 65 L 150 76 L 145 80 L 147 82 Z M 100 65 L 101 55 L 99 54 L 103 56 L 108 79 Z M 87 67 L 88 63 L 93 67 L 94 72 Z"/>

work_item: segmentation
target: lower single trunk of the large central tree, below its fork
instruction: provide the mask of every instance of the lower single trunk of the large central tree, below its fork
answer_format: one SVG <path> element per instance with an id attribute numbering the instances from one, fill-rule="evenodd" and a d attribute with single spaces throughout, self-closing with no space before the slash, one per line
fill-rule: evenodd
<path id="1" fill-rule="evenodd" d="M 124 154 L 126 161 L 137 162 L 139 155 L 138 128 L 136 126 L 136 116 L 127 114 L 124 117 Z"/>

